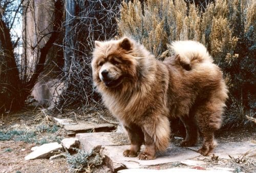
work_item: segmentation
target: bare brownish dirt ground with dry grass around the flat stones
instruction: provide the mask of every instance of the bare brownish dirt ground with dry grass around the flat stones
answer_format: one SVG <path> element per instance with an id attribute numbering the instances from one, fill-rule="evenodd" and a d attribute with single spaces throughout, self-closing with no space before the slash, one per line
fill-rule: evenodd
<path id="1" fill-rule="evenodd" d="M 63 138 L 68 137 L 63 128 L 55 128 L 53 122 L 47 118 L 46 111 L 42 110 L 24 110 L 17 113 L 9 114 L 8 116 L 1 117 L 0 119 L 0 132 L 8 131 L 22 131 L 24 134 L 30 134 L 31 132 L 36 135 L 32 138 L 22 138 L 19 136 L 13 136 L 9 140 L 0 139 L 0 173 L 1 172 L 70 172 L 69 166 L 66 162 L 66 158 L 62 157 L 55 160 L 49 159 L 36 159 L 26 161 L 24 158 L 31 153 L 31 147 L 38 146 L 43 143 L 60 141 Z M 104 116 L 103 116 L 104 115 Z M 83 111 L 81 114 L 70 112 L 67 114 L 56 114 L 58 118 L 73 119 L 77 122 L 90 122 L 90 123 L 117 123 L 117 120 L 113 118 L 109 113 L 102 111 Z M 1 134 L 0 134 L 1 135 Z M 246 131 L 238 129 L 232 132 L 219 132 L 216 135 L 218 141 L 255 141 L 255 131 Z M 173 141 L 179 142 L 179 141 Z M 235 168 L 233 172 L 254 172 L 255 162 L 246 160 L 243 163 L 236 163 L 230 160 L 217 160 L 212 161 L 210 157 L 204 157 L 208 161 L 207 167 L 232 167 Z M 156 165 L 148 168 L 164 169 L 171 167 L 187 167 L 180 163 Z M 98 168 L 88 168 L 87 171 L 93 172 L 110 172 L 110 169 L 106 166 L 100 166 Z"/>

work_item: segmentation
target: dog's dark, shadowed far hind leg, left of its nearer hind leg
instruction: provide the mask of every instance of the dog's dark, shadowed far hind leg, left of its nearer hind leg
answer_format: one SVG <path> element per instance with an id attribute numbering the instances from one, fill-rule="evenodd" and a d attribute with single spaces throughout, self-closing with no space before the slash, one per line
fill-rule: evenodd
<path id="1" fill-rule="evenodd" d="M 186 128 L 186 138 L 181 141 L 181 146 L 193 146 L 198 139 L 198 126 L 194 115 L 190 114 L 180 117 Z"/>

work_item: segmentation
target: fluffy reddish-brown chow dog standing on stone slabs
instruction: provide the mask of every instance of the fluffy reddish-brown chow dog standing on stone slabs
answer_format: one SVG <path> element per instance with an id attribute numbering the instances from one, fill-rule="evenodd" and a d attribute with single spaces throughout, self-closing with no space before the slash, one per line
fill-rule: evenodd
<path id="1" fill-rule="evenodd" d="M 198 150 L 207 155 L 215 146 L 214 132 L 220 128 L 227 88 L 218 66 L 206 48 L 196 41 L 176 41 L 175 56 L 155 59 L 131 38 L 95 41 L 93 81 L 111 113 L 125 127 L 131 148 L 123 152 L 139 159 L 156 158 L 169 142 L 169 118 L 179 117 L 186 127 L 181 146 L 204 138 Z"/>

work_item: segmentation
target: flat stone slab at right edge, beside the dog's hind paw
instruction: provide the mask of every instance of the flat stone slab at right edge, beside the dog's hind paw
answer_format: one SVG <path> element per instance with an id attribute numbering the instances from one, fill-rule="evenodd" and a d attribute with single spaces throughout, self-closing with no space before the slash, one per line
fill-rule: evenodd
<path id="1" fill-rule="evenodd" d="M 192 150 L 198 150 L 201 146 L 188 147 Z M 252 157 L 256 153 L 256 144 L 252 142 L 218 142 L 218 146 L 213 150 L 212 154 L 219 156 L 219 158 L 230 159 L 228 155 L 232 157 L 238 157 L 249 152 Z"/>

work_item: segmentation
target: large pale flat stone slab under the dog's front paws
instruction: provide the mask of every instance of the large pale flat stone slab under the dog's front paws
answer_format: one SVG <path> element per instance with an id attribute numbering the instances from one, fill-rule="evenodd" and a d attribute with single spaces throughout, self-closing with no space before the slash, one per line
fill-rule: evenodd
<path id="1" fill-rule="evenodd" d="M 139 160 L 135 158 L 127 158 L 123 156 L 123 151 L 129 148 L 129 145 L 119 145 L 113 140 L 116 133 L 84 133 L 77 134 L 76 138 L 80 141 L 80 147 L 86 151 L 101 150 L 101 154 L 105 155 L 106 164 L 112 171 L 124 168 L 140 168 L 149 165 L 157 165 L 163 163 L 178 162 L 187 159 L 193 159 L 200 156 L 199 153 L 185 147 L 170 145 L 166 152 L 158 153 L 154 160 Z M 143 146 L 142 146 L 143 149 Z"/>

